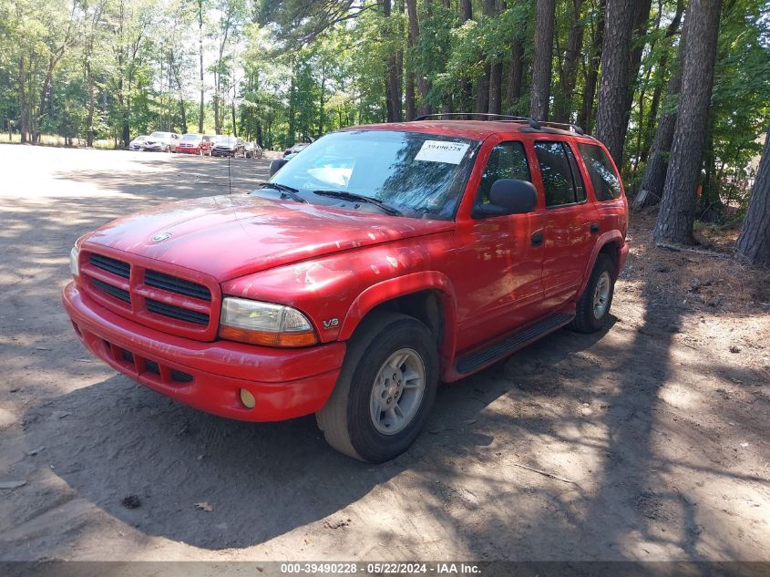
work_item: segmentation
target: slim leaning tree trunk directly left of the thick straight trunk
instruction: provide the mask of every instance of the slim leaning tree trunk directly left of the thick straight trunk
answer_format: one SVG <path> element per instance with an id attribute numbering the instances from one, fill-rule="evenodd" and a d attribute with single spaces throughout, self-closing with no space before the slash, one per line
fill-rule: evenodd
<path id="1" fill-rule="evenodd" d="M 663 101 L 663 113 L 658 119 L 658 129 L 652 139 L 652 147 L 647 157 L 647 166 L 644 167 L 642 182 L 639 185 L 639 193 L 634 199 L 634 208 L 641 209 L 661 201 L 663 185 L 666 181 L 669 154 L 673 140 L 673 129 L 676 126 L 676 113 L 679 108 L 679 92 L 682 89 L 682 67 L 684 57 L 684 44 L 686 38 L 682 35 L 679 41 L 676 68 L 669 77 L 666 87 L 666 97 Z M 652 111 L 651 111 L 652 114 Z"/>

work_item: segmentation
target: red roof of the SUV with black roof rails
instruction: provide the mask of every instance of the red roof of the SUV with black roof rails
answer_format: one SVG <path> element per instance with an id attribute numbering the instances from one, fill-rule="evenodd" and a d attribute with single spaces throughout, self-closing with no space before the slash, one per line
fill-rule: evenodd
<path id="1" fill-rule="evenodd" d="M 484 140 L 499 133 L 560 134 L 581 138 L 577 132 L 542 126 L 533 129 L 527 121 L 511 120 L 413 120 L 411 122 L 386 122 L 383 124 L 364 124 L 344 130 L 399 130 L 404 132 L 423 132 L 464 139 Z M 592 139 L 590 136 L 582 137 Z"/>

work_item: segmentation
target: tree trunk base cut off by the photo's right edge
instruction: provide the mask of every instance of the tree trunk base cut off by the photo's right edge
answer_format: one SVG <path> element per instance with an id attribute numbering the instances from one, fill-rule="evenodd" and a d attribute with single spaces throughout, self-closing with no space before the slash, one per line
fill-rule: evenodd
<path id="1" fill-rule="evenodd" d="M 770 128 L 736 250 L 755 266 L 770 266 Z"/>

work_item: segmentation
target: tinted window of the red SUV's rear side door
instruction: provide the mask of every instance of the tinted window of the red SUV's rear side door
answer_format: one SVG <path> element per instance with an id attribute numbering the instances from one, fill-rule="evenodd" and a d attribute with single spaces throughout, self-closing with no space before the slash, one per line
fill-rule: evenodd
<path id="1" fill-rule="evenodd" d="M 585 200 L 585 190 L 577 167 L 573 174 L 575 159 L 569 147 L 562 142 L 550 140 L 535 142 L 535 152 L 543 176 L 547 207 Z"/>

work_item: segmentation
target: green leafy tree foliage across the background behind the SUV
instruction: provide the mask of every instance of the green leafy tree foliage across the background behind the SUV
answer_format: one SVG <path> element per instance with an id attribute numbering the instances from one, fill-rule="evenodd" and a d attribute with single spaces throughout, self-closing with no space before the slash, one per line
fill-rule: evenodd
<path id="1" fill-rule="evenodd" d="M 389 2 L 390 15 L 385 9 Z M 497 3 L 498 15 L 461 22 L 458 3 L 418 0 L 419 35 L 407 47 L 405 0 L 0 0 L 0 117 L 26 136 L 120 141 L 154 129 L 197 131 L 199 10 L 204 55 L 204 131 L 238 133 L 280 149 L 344 126 L 381 122 L 389 75 L 426 78 L 426 102 L 457 110 L 476 102 L 476 82 L 501 64 L 503 111 L 529 108 L 534 0 Z M 580 10 L 577 15 L 575 6 Z M 551 100 L 577 118 L 598 35 L 599 0 L 557 0 Z M 656 117 L 677 66 L 680 33 L 667 34 L 676 0 L 654 2 L 624 158 L 630 189 L 642 174 Z M 770 122 L 770 3 L 725 2 L 703 182 L 710 198 L 740 205 L 757 136 Z M 573 27 L 582 27 L 574 89 L 561 75 Z M 523 46 L 518 95 L 514 46 Z M 470 91 L 461 95 L 461 88 Z M 93 98 L 91 98 L 93 92 Z M 423 98 L 416 94 L 417 104 Z M 398 103 L 404 106 L 405 100 Z M 465 104 L 463 104 L 465 103 Z M 589 102 L 590 103 L 590 102 Z M 595 102 L 593 108 L 595 109 Z M 234 110 L 234 115 L 233 115 Z M 472 111 L 465 109 L 463 111 Z M 233 124 L 233 116 L 235 123 Z M 589 116 L 590 121 L 590 116 Z"/>

